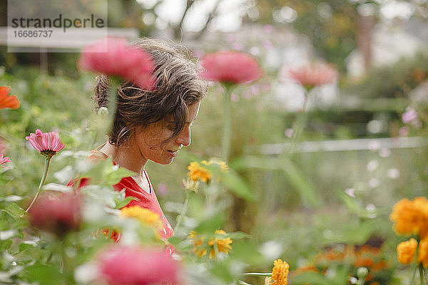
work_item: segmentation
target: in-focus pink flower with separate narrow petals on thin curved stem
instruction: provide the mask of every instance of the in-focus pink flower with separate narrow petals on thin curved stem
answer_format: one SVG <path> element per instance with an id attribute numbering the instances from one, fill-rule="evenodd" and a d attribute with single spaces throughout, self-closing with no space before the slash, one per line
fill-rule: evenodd
<path id="1" fill-rule="evenodd" d="M 58 133 L 42 133 L 39 129 L 36 130 L 36 133 L 31 133 L 29 137 L 26 137 L 26 140 L 29 140 L 31 145 L 46 157 L 54 156 L 65 146 L 59 139 Z"/>

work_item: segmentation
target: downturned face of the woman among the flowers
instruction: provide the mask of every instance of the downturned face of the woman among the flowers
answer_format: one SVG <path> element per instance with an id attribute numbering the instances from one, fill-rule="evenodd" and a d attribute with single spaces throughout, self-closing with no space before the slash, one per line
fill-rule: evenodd
<path id="1" fill-rule="evenodd" d="M 172 139 L 170 138 L 173 130 L 170 130 L 164 122 L 153 123 L 146 128 L 142 126 L 136 128 L 136 135 L 131 140 L 134 140 L 136 147 L 135 155 L 143 160 L 144 165 L 148 160 L 168 165 L 173 162 L 181 147 L 190 145 L 190 127 L 198 115 L 199 105 L 200 102 L 188 106 L 188 120 L 183 130 Z M 168 141 L 165 142 L 166 140 Z"/>

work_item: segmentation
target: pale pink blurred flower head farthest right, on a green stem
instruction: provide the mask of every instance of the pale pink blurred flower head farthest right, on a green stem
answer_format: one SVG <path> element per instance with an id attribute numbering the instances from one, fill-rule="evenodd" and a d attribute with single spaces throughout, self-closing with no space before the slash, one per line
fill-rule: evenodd
<path id="1" fill-rule="evenodd" d="M 337 77 L 337 69 L 322 63 L 315 63 L 311 66 L 301 66 L 290 69 L 290 77 L 304 86 L 307 90 L 327 83 L 332 83 Z"/>

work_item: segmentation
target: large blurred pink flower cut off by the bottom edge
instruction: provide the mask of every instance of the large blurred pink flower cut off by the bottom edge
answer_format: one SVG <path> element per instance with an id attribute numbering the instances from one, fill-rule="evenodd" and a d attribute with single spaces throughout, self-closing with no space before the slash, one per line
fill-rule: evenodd
<path id="1" fill-rule="evenodd" d="M 100 278 L 110 285 L 178 282 L 178 261 L 164 250 L 116 245 L 102 252 L 98 261 Z"/>

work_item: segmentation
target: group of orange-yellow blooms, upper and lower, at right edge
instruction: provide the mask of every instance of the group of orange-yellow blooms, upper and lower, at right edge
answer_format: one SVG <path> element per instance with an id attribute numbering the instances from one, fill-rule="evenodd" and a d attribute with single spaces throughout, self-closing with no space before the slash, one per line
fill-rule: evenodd
<path id="1" fill-rule="evenodd" d="M 411 238 L 397 245 L 398 261 L 402 264 L 411 264 L 415 255 L 417 264 L 428 267 L 428 200 L 425 197 L 416 197 L 412 200 L 402 199 L 394 204 L 389 219 L 394 222 L 397 234 L 418 237 Z"/>

